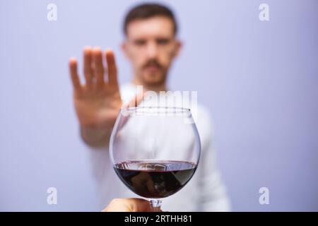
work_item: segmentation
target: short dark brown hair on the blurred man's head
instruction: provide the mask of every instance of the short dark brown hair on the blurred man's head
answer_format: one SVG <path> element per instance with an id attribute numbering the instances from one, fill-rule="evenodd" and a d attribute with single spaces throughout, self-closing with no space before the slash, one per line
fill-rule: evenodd
<path id="1" fill-rule="evenodd" d="M 173 31 L 175 35 L 177 34 L 177 21 L 175 20 L 173 12 L 170 8 L 161 4 L 140 4 L 131 8 L 124 20 L 124 34 L 127 35 L 127 26 L 132 21 L 148 19 L 154 16 L 165 16 L 170 18 L 174 25 Z"/>

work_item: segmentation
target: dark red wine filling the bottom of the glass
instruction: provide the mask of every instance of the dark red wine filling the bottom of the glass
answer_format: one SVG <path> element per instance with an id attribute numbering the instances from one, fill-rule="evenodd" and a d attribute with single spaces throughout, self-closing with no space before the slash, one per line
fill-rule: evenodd
<path id="1" fill-rule="evenodd" d="M 183 161 L 125 161 L 114 170 L 126 186 L 145 198 L 165 198 L 189 182 L 196 164 Z"/>

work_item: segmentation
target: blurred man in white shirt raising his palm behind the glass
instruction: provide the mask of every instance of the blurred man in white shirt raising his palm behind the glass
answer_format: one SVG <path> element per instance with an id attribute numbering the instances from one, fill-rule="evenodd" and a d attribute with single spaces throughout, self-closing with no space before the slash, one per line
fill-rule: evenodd
<path id="1" fill-rule="evenodd" d="M 147 103 L 144 90 L 166 91 L 167 73 L 182 44 L 177 39 L 177 23 L 172 11 L 158 4 L 142 4 L 129 11 L 124 20 L 126 40 L 122 49 L 133 66 L 131 83 L 119 88 L 114 53 L 108 49 L 86 47 L 84 50 L 85 85 L 80 83 L 77 61 L 71 58 L 73 101 L 81 126 L 81 136 L 92 148 L 92 162 L 98 179 L 101 198 L 109 203 L 115 197 L 134 196 L 115 176 L 108 159 L 108 143 L 120 107 Z M 103 66 L 103 55 L 107 69 Z M 107 76 L 105 75 L 107 73 Z M 177 103 L 178 105 L 179 103 Z M 228 198 L 216 167 L 216 153 L 211 141 L 211 125 L 203 107 L 197 109 L 196 126 L 201 138 L 201 160 L 191 181 L 177 194 L 165 198 L 163 209 L 169 211 L 227 211 Z M 102 150 L 95 150 L 102 149 Z"/>

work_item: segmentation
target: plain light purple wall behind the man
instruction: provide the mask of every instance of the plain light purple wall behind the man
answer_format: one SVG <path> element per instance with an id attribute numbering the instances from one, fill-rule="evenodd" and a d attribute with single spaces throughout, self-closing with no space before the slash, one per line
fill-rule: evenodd
<path id="1" fill-rule="evenodd" d="M 67 64 L 87 44 L 112 47 L 129 81 L 119 44 L 134 2 L 1 1 L 0 210 L 99 210 Z M 261 3 L 269 22 L 259 20 Z M 170 87 L 199 90 L 211 110 L 232 209 L 318 210 L 318 1 L 169 5 L 184 40 Z M 49 186 L 57 205 L 47 204 Z M 269 205 L 259 204 L 262 186 Z"/>

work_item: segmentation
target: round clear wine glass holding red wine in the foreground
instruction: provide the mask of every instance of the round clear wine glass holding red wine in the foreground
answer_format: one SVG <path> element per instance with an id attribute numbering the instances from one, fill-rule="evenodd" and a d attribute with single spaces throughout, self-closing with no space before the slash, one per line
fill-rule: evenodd
<path id="1" fill-rule="evenodd" d="M 190 109 L 127 107 L 110 137 L 110 160 L 118 177 L 151 210 L 182 189 L 199 164 L 201 143 Z"/>

